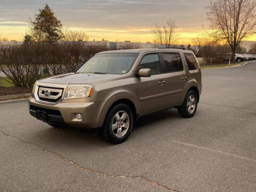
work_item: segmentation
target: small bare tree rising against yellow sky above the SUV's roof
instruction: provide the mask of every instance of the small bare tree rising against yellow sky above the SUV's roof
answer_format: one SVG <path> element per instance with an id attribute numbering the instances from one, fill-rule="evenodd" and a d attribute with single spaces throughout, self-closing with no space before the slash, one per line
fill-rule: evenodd
<path id="1" fill-rule="evenodd" d="M 156 23 L 153 29 L 154 43 L 161 46 L 171 46 L 176 43 L 179 37 L 179 33 L 176 32 L 177 28 L 175 21 L 171 19 L 163 25 Z"/>

